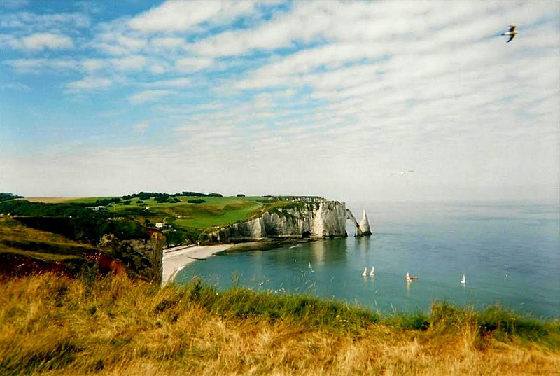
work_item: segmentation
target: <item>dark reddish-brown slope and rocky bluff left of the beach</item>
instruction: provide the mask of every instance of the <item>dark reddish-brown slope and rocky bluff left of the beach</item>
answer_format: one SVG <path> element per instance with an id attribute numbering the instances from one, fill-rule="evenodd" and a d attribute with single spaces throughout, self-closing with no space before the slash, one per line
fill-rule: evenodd
<path id="1" fill-rule="evenodd" d="M 158 259 L 161 259 L 161 246 L 155 250 L 158 257 L 144 251 L 146 244 L 149 245 L 152 240 L 115 239 L 111 244 L 100 247 L 96 246 L 97 243 L 77 242 L 59 233 L 34 228 L 62 225 L 62 228 L 55 230 L 69 232 L 70 228 L 70 233 L 75 235 L 75 229 L 69 223 L 58 221 L 61 218 L 19 219 L 7 216 L 0 218 L 0 276 L 19 277 L 55 272 L 66 277 L 83 277 L 117 272 L 132 278 L 160 281 L 158 267 L 161 265 Z M 34 227 L 25 225 L 26 221 Z M 68 225 L 68 228 L 64 228 L 64 225 Z M 140 245 L 130 246 L 130 242 Z"/>

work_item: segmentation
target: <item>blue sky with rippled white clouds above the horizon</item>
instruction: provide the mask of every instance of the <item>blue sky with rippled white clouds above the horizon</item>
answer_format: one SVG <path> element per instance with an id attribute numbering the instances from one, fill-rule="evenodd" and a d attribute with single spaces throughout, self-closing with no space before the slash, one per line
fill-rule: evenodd
<path id="1" fill-rule="evenodd" d="M 560 200 L 559 1 L 0 7 L 0 191 Z"/>

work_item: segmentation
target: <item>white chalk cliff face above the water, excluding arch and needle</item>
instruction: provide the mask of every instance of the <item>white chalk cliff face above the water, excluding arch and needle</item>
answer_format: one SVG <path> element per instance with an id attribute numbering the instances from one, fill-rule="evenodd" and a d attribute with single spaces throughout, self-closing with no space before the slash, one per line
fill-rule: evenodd
<path id="1" fill-rule="evenodd" d="M 209 233 L 212 242 L 241 242 L 277 237 L 344 237 L 347 209 L 344 202 L 319 201 L 270 209 L 248 221 Z"/>

